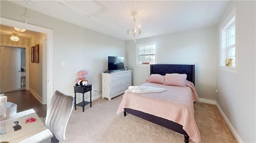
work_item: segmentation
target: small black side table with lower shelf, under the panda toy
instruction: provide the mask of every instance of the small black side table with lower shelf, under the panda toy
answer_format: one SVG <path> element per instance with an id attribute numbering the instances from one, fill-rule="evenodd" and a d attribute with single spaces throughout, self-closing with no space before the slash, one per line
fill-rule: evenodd
<path id="1" fill-rule="evenodd" d="M 84 101 L 84 93 L 90 91 L 90 102 Z M 76 106 L 80 106 L 83 108 L 84 112 L 84 106 L 90 104 L 90 107 L 92 107 L 92 84 L 88 84 L 88 86 L 74 86 L 74 93 L 75 93 L 75 99 L 74 99 L 74 107 L 76 110 Z M 83 100 L 82 102 L 76 104 L 76 93 L 82 93 L 83 94 Z"/>

